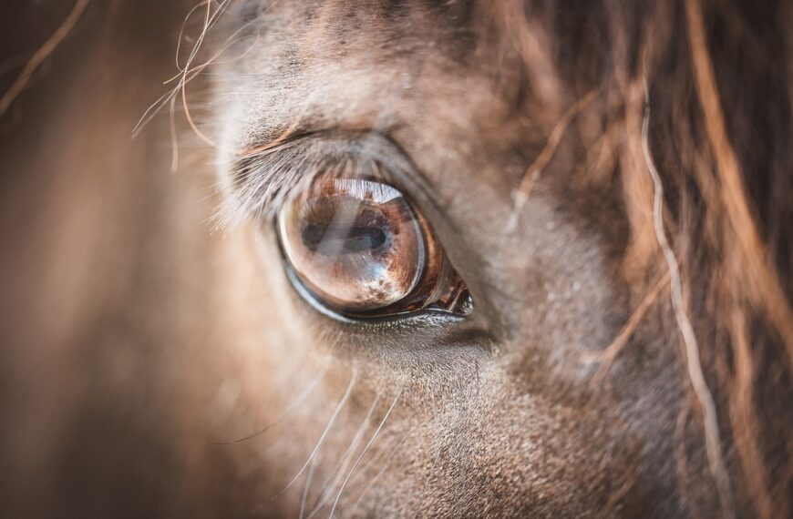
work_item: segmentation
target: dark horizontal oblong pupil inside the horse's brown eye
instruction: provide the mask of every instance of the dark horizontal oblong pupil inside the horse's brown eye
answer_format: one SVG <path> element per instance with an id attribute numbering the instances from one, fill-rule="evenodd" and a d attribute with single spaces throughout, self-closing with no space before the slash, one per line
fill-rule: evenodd
<path id="1" fill-rule="evenodd" d="M 383 229 L 377 227 L 309 224 L 304 227 L 302 238 L 306 249 L 324 256 L 334 256 L 379 249 L 385 245 L 387 236 Z"/>

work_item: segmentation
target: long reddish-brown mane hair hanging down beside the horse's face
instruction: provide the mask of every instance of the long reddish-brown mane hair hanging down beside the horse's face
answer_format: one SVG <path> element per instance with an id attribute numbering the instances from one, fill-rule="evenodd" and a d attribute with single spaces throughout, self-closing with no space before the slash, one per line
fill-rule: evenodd
<path id="1" fill-rule="evenodd" d="M 725 514 L 788 516 L 793 7 L 504 2 L 490 15 L 530 85 L 552 93 L 551 114 L 591 90 L 604 99 L 600 131 L 579 131 L 596 150 L 579 175 L 622 184 L 637 311 L 659 275 L 679 294 L 691 402 L 678 441 L 705 444 L 711 478 L 695 482 L 681 448 L 684 494 L 718 496 Z"/>

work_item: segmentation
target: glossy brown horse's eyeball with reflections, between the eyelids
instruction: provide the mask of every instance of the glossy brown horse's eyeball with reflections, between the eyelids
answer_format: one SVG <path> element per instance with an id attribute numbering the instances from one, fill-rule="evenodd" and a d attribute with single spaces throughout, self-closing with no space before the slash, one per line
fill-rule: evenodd
<path id="1" fill-rule="evenodd" d="M 470 310 L 427 219 L 387 184 L 318 180 L 281 209 L 278 234 L 296 278 L 345 316 Z"/>

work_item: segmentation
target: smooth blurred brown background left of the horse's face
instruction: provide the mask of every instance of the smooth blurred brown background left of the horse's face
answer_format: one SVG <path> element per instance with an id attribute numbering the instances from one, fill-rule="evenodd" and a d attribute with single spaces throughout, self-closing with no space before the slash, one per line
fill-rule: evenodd
<path id="1" fill-rule="evenodd" d="M 187 10 L 3 5 L 4 96 L 63 38 L 0 117 L 0 516 L 220 513 L 211 483 L 190 490 L 207 462 L 176 405 L 189 398 L 180 365 L 211 341 L 196 322 L 211 301 L 191 297 L 209 275 L 195 258 L 211 257 L 212 203 L 196 204 L 211 180 L 171 173 L 168 117 L 131 137 L 175 72 Z"/>

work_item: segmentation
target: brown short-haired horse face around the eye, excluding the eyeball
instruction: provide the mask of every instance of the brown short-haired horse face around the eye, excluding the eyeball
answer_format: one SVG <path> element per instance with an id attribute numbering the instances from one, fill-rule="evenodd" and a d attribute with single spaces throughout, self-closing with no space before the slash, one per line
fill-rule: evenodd
<path id="1" fill-rule="evenodd" d="M 276 3 L 220 67 L 224 215 L 255 243 L 240 261 L 262 285 L 245 303 L 250 422 L 221 437 L 278 420 L 225 448 L 263 452 L 262 495 L 288 486 L 264 507 L 283 514 L 673 514 L 674 328 L 651 312 L 592 378 L 630 313 L 619 192 L 576 175 L 586 137 L 549 148 L 576 99 L 514 91 L 497 44 L 471 41 L 471 9 Z M 327 174 L 324 159 L 365 175 L 355 165 L 372 158 L 467 284 L 466 317 L 345 321 L 289 280 L 274 192 Z"/>

